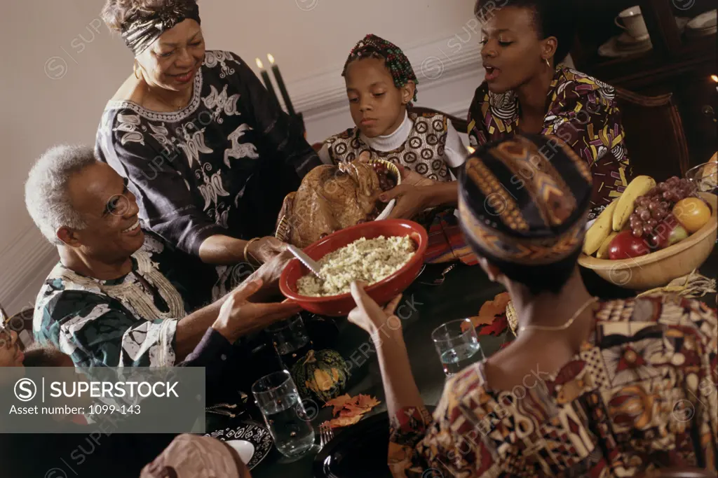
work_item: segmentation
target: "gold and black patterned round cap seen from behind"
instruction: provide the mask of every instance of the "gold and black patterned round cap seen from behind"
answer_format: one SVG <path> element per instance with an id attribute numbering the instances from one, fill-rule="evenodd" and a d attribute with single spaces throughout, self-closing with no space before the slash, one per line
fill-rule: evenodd
<path id="1" fill-rule="evenodd" d="M 461 226 L 477 254 L 541 265 L 583 244 L 591 172 L 559 138 L 516 135 L 485 145 L 460 181 Z"/>

